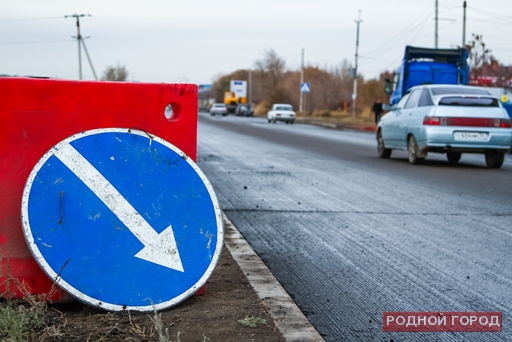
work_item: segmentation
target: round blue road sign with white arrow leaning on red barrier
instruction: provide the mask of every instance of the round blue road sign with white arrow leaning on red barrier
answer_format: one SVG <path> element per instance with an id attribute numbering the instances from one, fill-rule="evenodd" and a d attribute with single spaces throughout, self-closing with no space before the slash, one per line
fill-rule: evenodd
<path id="1" fill-rule="evenodd" d="M 213 188 L 146 132 L 75 134 L 32 170 L 22 224 L 34 258 L 77 299 L 107 310 L 171 307 L 203 286 L 224 226 Z"/>

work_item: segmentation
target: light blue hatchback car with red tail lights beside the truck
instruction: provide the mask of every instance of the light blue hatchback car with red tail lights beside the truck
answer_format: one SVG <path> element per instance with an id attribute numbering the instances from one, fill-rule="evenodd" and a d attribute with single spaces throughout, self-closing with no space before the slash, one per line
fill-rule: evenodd
<path id="1" fill-rule="evenodd" d="M 457 163 L 462 153 L 483 153 L 488 167 L 499 168 L 511 147 L 510 118 L 483 88 L 416 86 L 388 109 L 377 127 L 380 158 L 397 149 L 407 150 L 411 164 L 423 162 L 429 152 L 446 153 Z"/>

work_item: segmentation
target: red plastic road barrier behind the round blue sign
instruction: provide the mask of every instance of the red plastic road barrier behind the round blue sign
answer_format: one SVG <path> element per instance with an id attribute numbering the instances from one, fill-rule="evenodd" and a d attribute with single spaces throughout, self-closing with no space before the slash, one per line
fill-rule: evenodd
<path id="1" fill-rule="evenodd" d="M 172 116 L 165 109 L 172 106 Z M 169 112 L 167 112 L 169 114 Z M 169 115 L 168 115 L 169 116 Z M 138 128 L 196 160 L 197 86 L 0 78 L 0 294 L 49 294 L 21 227 L 23 187 L 37 161 L 63 139 L 96 128 Z M 203 289 L 204 291 L 204 289 Z M 52 300 L 67 297 L 62 290 Z"/>

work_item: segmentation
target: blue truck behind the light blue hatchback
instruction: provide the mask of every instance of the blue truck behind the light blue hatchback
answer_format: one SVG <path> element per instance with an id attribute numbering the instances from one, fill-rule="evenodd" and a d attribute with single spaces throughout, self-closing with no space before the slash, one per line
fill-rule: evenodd
<path id="1" fill-rule="evenodd" d="M 386 79 L 390 104 L 400 101 L 409 88 L 420 84 L 468 84 L 468 50 L 406 46 L 393 81 Z"/>

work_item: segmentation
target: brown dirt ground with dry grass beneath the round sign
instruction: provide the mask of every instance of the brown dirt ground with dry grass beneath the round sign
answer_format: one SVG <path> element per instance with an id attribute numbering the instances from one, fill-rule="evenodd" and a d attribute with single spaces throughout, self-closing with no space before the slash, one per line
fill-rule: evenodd
<path id="1" fill-rule="evenodd" d="M 47 326 L 29 341 L 284 341 L 226 248 L 205 294 L 160 315 L 106 312 L 78 301 L 54 304 L 47 308 Z"/>

